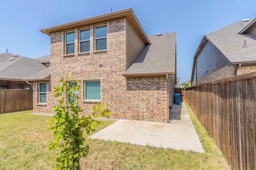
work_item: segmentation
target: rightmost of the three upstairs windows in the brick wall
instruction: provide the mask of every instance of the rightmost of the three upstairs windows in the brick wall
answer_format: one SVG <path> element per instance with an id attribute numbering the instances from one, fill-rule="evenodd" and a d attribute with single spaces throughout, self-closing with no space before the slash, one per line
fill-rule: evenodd
<path id="1" fill-rule="evenodd" d="M 107 49 L 107 26 L 95 27 L 95 50 Z"/>

